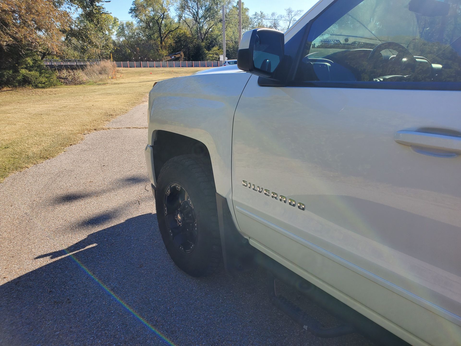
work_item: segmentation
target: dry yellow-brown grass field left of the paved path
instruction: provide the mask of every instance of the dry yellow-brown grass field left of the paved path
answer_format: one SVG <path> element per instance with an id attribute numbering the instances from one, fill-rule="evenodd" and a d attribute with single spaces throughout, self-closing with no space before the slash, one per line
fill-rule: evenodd
<path id="1" fill-rule="evenodd" d="M 102 85 L 0 92 L 0 182 L 62 153 L 139 104 L 155 81 L 204 68 L 120 68 Z M 152 72 L 152 74 L 151 74 Z"/>

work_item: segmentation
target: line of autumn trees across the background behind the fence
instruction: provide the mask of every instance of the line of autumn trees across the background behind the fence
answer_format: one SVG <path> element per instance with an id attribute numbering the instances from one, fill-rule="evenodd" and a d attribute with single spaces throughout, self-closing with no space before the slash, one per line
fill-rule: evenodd
<path id="1" fill-rule="evenodd" d="M 235 0 L 134 0 L 132 20 L 106 12 L 107 0 L 2 0 L 0 2 L 0 88 L 57 83 L 44 59 L 159 60 L 183 51 L 185 60 L 218 60 L 222 54 L 222 5 L 226 52 L 238 49 Z M 301 10 L 249 13 L 242 3 L 242 31 L 286 30 Z"/>

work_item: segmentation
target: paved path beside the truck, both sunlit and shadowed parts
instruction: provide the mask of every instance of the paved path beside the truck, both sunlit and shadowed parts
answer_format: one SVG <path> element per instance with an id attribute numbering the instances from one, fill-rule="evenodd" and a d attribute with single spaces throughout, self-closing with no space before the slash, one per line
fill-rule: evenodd
<path id="1" fill-rule="evenodd" d="M 0 184 L 0 345 L 372 345 L 303 331 L 270 304 L 260 269 L 176 268 L 145 168 L 146 108 Z"/>

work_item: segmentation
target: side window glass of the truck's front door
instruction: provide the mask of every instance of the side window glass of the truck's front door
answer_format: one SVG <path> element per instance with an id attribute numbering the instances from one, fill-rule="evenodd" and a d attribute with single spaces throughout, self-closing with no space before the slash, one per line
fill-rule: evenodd
<path id="1" fill-rule="evenodd" d="M 301 59 L 300 82 L 461 83 L 461 0 L 338 0 Z"/>

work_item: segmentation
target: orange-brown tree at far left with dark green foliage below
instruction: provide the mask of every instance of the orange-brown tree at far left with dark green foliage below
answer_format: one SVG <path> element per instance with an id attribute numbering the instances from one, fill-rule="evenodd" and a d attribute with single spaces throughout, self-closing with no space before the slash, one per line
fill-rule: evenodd
<path id="1" fill-rule="evenodd" d="M 59 53 L 62 30 L 71 20 L 51 0 L 0 2 L 0 89 L 4 86 L 58 84 L 40 60 L 41 51 Z"/>

